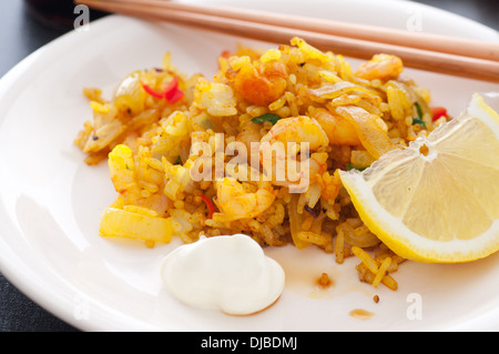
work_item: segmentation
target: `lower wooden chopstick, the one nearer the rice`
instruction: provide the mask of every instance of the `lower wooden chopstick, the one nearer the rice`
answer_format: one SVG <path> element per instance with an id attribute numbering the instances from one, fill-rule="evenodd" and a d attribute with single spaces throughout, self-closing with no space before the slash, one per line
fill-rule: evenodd
<path id="1" fill-rule="evenodd" d="M 192 7 L 170 1 L 77 0 L 77 2 L 108 12 L 201 27 L 267 42 L 287 43 L 291 38 L 299 37 L 318 49 L 332 50 L 335 53 L 354 58 L 368 59 L 375 53 L 390 53 L 400 57 L 406 67 L 499 82 L 499 61 L 496 60 L 314 32 L 303 28 L 289 28 L 283 26 L 283 22 L 279 22 L 281 24 L 268 24 L 266 20 L 254 22 L 246 18 L 247 13 L 255 14 L 254 11 L 245 12 L 245 10 L 224 8 L 224 12 L 221 12 L 222 16 L 218 16 L 220 8 Z M 172 4 L 174 6 L 172 7 Z M 230 14 L 235 18 L 228 17 Z M 478 43 L 483 44 L 483 42 Z M 497 45 L 496 43 L 489 44 L 490 48 Z M 464 45 L 461 43 L 461 48 Z M 467 51 L 465 50 L 465 52 Z M 492 55 L 492 58 L 495 57 Z"/>

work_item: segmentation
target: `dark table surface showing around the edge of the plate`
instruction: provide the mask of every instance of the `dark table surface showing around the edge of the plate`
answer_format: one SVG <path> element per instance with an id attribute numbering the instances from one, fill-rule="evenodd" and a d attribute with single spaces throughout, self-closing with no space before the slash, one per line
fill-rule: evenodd
<path id="1" fill-rule="evenodd" d="M 497 0 L 420 0 L 499 30 Z M 48 27 L 35 20 L 22 0 L 0 1 L 0 77 L 24 57 L 71 30 Z M 92 18 L 103 16 L 92 13 Z M 77 14 L 74 14 L 77 17 Z M 0 273 L 1 332 L 72 332 L 78 328 L 62 322 L 32 302 Z"/>

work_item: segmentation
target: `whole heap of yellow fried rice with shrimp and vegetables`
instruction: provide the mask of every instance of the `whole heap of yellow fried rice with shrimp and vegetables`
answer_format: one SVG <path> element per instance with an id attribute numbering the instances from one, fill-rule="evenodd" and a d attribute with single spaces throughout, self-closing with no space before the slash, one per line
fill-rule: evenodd
<path id="1" fill-rule="evenodd" d="M 428 90 L 404 75 L 399 58 L 380 53 L 354 69 L 293 38 L 224 51 L 211 79 L 180 72 L 167 53 L 161 68 L 125 77 L 109 100 L 99 89 L 84 93 L 93 120 L 75 144 L 88 164 L 108 159 L 116 190 L 103 236 L 154 246 L 244 233 L 262 246 L 316 246 L 338 263 L 357 256 L 360 281 L 397 289 L 389 274 L 404 259 L 363 224 L 337 171 L 366 169 L 448 119 L 432 120 Z M 274 151 L 285 160 L 306 155 L 306 181 L 286 169 L 265 178 L 278 158 L 255 152 L 264 142 L 307 143 L 308 154 L 284 144 Z M 208 152 L 193 149 L 200 144 Z M 236 169 L 234 155 L 244 158 Z"/>

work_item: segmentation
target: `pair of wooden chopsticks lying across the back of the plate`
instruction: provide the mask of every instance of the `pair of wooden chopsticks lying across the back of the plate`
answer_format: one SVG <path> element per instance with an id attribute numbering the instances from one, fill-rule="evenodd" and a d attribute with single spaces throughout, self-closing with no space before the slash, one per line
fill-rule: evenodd
<path id="1" fill-rule="evenodd" d="M 346 57 L 370 59 L 388 53 L 406 67 L 499 82 L 499 44 L 356 23 L 164 0 L 77 0 L 106 12 L 200 27 L 266 42 L 299 37 Z"/>

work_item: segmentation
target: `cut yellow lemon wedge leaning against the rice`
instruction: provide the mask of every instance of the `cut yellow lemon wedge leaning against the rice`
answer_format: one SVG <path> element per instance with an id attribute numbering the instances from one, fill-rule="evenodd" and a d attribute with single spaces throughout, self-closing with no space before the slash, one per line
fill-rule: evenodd
<path id="1" fill-rule="evenodd" d="M 364 223 L 403 257 L 459 263 L 499 250 L 499 115 L 478 93 L 428 136 L 340 178 Z"/>

